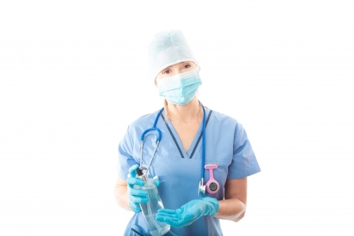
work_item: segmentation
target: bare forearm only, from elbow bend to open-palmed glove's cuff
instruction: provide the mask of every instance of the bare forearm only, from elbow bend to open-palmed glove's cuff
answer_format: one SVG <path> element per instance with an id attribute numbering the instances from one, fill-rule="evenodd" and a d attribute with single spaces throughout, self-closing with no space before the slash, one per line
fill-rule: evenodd
<path id="1" fill-rule="evenodd" d="M 238 198 L 229 198 L 219 201 L 219 211 L 215 215 L 216 218 L 223 220 L 232 220 L 238 222 L 244 218 L 246 213 L 246 205 Z"/>

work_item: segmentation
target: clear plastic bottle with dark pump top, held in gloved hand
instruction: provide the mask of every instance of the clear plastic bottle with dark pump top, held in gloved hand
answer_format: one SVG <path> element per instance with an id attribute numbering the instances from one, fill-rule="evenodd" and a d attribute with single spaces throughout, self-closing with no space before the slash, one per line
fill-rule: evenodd
<path id="1" fill-rule="evenodd" d="M 139 172 L 138 172 L 139 175 Z M 152 236 L 160 236 L 169 232 L 170 225 L 156 220 L 157 210 L 164 208 L 162 205 L 162 201 L 159 195 L 159 191 L 154 183 L 154 179 L 147 179 L 145 175 L 139 176 L 145 182 L 144 186 L 140 188 L 147 191 L 149 201 L 147 203 L 140 203 L 140 208 L 142 208 L 142 213 L 144 214 L 144 218 L 147 222 L 147 226 L 149 227 L 149 231 Z"/>

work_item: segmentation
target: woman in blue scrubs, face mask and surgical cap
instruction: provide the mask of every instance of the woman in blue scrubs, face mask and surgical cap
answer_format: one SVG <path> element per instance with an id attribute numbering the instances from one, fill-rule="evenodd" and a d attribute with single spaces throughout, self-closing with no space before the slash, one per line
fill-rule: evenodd
<path id="1" fill-rule="evenodd" d="M 149 176 L 159 176 L 156 185 L 165 208 L 159 210 L 156 220 L 171 225 L 166 235 L 222 235 L 219 219 L 238 222 L 244 217 L 246 177 L 261 171 L 246 131 L 234 118 L 198 101 L 200 67 L 181 30 L 155 35 L 149 47 L 149 63 L 164 98 L 164 111 L 155 111 L 130 124 L 118 148 L 116 200 L 122 208 L 135 211 L 125 235 L 150 235 L 139 207 L 139 203 L 149 200 L 147 193 L 133 186 L 144 184 L 135 177 L 140 137 L 152 127 L 156 116 L 161 142 Z M 154 138 L 145 141 L 144 163 L 149 163 L 155 144 Z M 205 182 L 210 179 L 210 170 L 204 169 L 203 162 L 218 164 L 212 170 L 218 185 L 210 185 L 207 191 L 200 188 L 205 184 L 200 183 L 202 174 Z"/>

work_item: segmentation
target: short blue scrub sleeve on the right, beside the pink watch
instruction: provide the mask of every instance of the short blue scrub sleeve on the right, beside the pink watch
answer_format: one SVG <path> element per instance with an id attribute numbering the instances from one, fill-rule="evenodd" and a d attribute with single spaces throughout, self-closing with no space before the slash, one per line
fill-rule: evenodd
<path id="1" fill-rule="evenodd" d="M 227 179 L 241 179 L 261 172 L 256 156 L 247 137 L 246 130 L 237 124 L 234 134 L 232 162 L 229 165 Z"/>

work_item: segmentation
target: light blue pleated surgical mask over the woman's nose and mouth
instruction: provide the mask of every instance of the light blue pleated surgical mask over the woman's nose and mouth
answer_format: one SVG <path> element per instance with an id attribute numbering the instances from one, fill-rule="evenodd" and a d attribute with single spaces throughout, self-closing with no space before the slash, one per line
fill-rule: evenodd
<path id="1" fill-rule="evenodd" d="M 172 77 L 156 79 L 156 82 L 160 96 L 176 105 L 185 105 L 192 101 L 202 84 L 198 69 Z"/>

